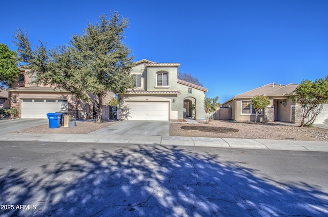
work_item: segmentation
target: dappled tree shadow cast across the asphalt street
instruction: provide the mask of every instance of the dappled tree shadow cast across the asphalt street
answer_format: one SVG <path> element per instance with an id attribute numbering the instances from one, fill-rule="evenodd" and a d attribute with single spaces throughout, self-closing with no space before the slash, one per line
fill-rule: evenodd
<path id="1" fill-rule="evenodd" d="M 2 173 L 1 216 L 326 216 L 328 195 L 306 183 L 259 178 L 241 163 L 178 147 L 90 149 L 44 164 L 42 174 Z"/>

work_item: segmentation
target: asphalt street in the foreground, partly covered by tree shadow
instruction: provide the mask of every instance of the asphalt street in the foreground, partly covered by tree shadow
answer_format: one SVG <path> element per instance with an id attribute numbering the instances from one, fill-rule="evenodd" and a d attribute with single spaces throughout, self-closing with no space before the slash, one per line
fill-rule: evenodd
<path id="1" fill-rule="evenodd" d="M 0 216 L 327 216 L 328 152 L 0 141 Z"/>

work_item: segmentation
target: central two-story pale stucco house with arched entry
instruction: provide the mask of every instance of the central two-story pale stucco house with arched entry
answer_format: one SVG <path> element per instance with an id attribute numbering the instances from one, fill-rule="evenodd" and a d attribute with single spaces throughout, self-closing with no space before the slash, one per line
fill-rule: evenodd
<path id="1" fill-rule="evenodd" d="M 131 74 L 136 88 L 119 95 L 118 118 L 129 120 L 178 120 L 206 117 L 207 88 L 178 79 L 179 63 L 135 62 Z M 192 109 L 194 105 L 195 109 Z"/>

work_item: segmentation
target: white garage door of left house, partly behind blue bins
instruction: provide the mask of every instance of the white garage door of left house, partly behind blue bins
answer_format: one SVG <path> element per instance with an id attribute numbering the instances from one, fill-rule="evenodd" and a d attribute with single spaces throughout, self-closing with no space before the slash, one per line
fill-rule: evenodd
<path id="1" fill-rule="evenodd" d="M 67 100 L 22 100 L 21 118 L 47 118 L 47 113 L 67 112 Z"/>

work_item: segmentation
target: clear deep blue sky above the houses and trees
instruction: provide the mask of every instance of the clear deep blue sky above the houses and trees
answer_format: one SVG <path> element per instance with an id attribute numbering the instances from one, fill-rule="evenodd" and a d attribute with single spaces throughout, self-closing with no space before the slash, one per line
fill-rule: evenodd
<path id="1" fill-rule="evenodd" d="M 275 82 L 328 75 L 328 1 L 4 1 L 0 43 L 17 28 L 32 44 L 67 44 L 87 19 L 110 10 L 130 20 L 125 43 L 134 60 L 178 62 L 223 103 Z"/>

